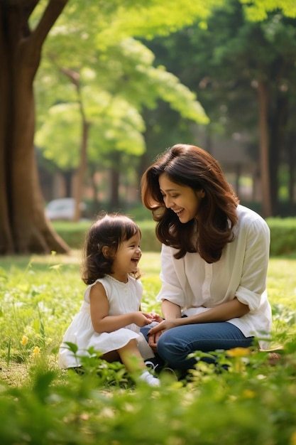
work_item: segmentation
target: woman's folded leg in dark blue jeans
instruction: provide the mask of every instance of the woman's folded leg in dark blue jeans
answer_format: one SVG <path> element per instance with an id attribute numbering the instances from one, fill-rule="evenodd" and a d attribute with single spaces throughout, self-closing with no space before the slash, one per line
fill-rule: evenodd
<path id="1" fill-rule="evenodd" d="M 198 323 L 165 331 L 158 340 L 158 353 L 172 368 L 187 370 L 197 362 L 195 358 L 187 358 L 190 353 L 248 348 L 252 343 L 253 337 L 245 337 L 239 328 L 226 321 Z M 214 357 L 204 360 L 215 361 Z"/>

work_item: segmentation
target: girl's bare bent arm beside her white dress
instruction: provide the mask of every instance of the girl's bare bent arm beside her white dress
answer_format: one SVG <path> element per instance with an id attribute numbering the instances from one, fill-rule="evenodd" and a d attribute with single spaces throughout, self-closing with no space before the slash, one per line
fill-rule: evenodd
<path id="1" fill-rule="evenodd" d="M 92 286 L 89 301 L 92 326 L 97 333 L 113 332 L 131 323 L 142 327 L 151 322 L 141 311 L 109 316 L 109 301 L 102 283 Z"/>

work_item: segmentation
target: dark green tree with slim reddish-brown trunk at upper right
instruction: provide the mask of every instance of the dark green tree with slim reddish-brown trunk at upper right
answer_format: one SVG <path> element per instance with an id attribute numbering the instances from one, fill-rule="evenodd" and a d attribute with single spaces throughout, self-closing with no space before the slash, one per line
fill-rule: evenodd
<path id="1" fill-rule="evenodd" d="M 229 137 L 248 132 L 252 145 L 260 147 L 262 213 L 270 216 L 278 215 L 278 166 L 295 98 L 296 28 L 295 19 L 276 9 L 283 1 L 266 2 L 261 21 L 255 9 L 251 11 L 256 21 L 246 18 L 251 3 L 243 8 L 239 0 L 231 0 L 227 8 L 213 12 L 206 30 L 190 26 L 152 41 L 150 47 L 158 60 L 198 92 L 211 121 L 208 133 L 220 132 L 221 127 Z M 266 14 L 270 5 L 273 11 Z"/>

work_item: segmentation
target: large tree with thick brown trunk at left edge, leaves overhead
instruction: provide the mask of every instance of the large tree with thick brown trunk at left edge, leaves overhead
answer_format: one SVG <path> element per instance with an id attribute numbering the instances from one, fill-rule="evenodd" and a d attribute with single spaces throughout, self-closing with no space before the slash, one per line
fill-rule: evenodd
<path id="1" fill-rule="evenodd" d="M 4 110 L 0 119 L 0 254 L 68 250 L 45 218 L 33 145 L 33 81 L 43 43 L 67 3 L 2 0 L 0 4 L 0 100 Z M 127 0 L 122 5 L 120 0 L 89 0 L 86 6 L 85 1 L 77 0 L 69 1 L 67 16 L 73 28 L 80 26 L 87 14 L 93 27 L 96 17 L 110 39 L 114 37 L 110 29 L 117 29 L 118 40 L 119 33 L 128 35 L 131 21 L 136 23 L 135 34 L 143 30 L 146 35 L 168 33 L 192 23 L 198 15 L 206 17 L 211 3 L 204 7 L 189 0 L 174 4 L 168 0 L 159 4 Z"/>

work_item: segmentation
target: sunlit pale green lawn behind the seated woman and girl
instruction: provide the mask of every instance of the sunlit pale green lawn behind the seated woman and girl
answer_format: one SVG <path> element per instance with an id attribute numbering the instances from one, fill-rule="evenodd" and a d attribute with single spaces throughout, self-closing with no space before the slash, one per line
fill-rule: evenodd
<path id="1" fill-rule="evenodd" d="M 273 306 L 273 346 L 295 335 L 296 259 L 270 259 L 268 295 Z M 160 289 L 160 256 L 146 252 L 141 259 L 143 310 L 160 313 L 155 295 Z M 55 353 L 82 302 L 80 252 L 71 256 L 7 257 L 0 268 L 2 377 L 23 382 L 23 367 L 35 347 Z M 21 345 L 23 336 L 28 343 Z M 45 344 L 46 343 L 46 344 Z M 6 364 L 5 364 L 6 363 Z"/>

